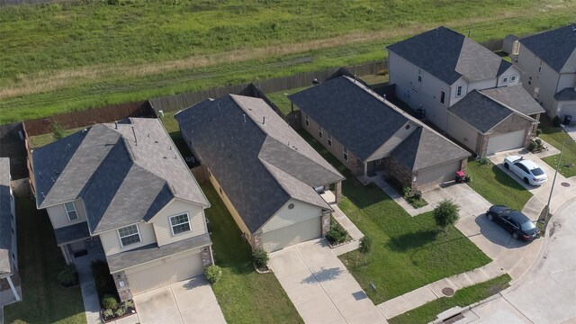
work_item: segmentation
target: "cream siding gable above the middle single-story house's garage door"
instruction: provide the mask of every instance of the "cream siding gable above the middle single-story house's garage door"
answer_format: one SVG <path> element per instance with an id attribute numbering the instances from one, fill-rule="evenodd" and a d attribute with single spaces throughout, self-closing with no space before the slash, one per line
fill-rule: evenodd
<path id="1" fill-rule="evenodd" d="M 293 203 L 294 208 L 288 206 Z M 322 209 L 307 202 L 296 199 L 290 199 L 284 206 L 278 210 L 275 215 L 262 226 L 262 232 L 266 233 L 275 229 L 281 229 L 295 223 L 318 218 L 322 215 Z"/>

